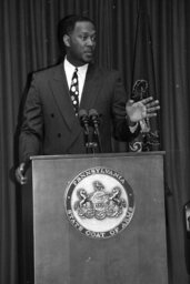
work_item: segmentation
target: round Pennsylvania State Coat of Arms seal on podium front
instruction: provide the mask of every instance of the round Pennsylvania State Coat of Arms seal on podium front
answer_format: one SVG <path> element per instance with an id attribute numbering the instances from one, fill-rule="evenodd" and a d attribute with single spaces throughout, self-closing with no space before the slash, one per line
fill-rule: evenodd
<path id="1" fill-rule="evenodd" d="M 70 223 L 86 236 L 111 237 L 124 230 L 133 216 L 133 192 L 114 170 L 87 169 L 68 184 L 66 212 Z"/>

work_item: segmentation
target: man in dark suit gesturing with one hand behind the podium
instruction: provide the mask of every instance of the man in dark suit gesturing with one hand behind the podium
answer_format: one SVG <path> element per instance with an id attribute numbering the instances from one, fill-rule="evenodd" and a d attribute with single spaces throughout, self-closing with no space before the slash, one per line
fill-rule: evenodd
<path id="1" fill-rule="evenodd" d="M 80 110 L 93 109 L 101 114 L 97 141 L 101 140 L 101 152 L 108 153 L 112 151 L 112 135 L 130 141 L 139 133 L 138 122 L 157 115 L 159 109 L 159 102 L 152 98 L 127 102 L 119 73 L 93 64 L 96 27 L 90 19 L 64 18 L 59 38 L 66 49 L 63 62 L 33 75 L 26 101 L 20 165 L 16 170 L 21 184 L 27 182 L 24 169 L 31 155 L 87 153 Z"/>

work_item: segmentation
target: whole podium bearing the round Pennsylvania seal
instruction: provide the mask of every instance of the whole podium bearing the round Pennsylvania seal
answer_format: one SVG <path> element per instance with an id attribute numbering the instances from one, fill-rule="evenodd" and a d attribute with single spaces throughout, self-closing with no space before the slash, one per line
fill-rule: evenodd
<path id="1" fill-rule="evenodd" d="M 34 284 L 167 284 L 163 156 L 163 152 L 33 156 Z M 90 193 L 84 179 L 93 176 L 101 186 Z M 108 186 L 108 179 L 116 179 L 120 187 L 127 185 L 128 195 L 117 195 L 120 203 L 112 194 L 119 186 L 112 182 Z M 81 189 L 88 202 L 79 196 Z M 72 193 L 77 201 L 71 201 Z M 88 219 L 86 209 L 91 209 L 92 200 L 97 211 L 93 207 L 91 213 L 107 214 L 114 207 L 120 216 L 114 212 L 114 217 L 112 210 L 112 215 Z M 76 206 L 76 212 L 69 206 Z"/>

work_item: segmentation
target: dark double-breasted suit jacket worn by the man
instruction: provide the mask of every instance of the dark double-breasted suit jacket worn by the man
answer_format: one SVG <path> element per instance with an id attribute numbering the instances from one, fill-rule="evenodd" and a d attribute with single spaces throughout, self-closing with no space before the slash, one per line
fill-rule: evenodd
<path id="1" fill-rule="evenodd" d="M 128 141 L 127 94 L 118 71 L 89 65 L 80 109 L 101 114 L 102 152 L 111 152 L 111 135 Z M 20 160 L 38 154 L 86 153 L 83 129 L 74 115 L 63 64 L 33 74 L 23 111 Z"/>

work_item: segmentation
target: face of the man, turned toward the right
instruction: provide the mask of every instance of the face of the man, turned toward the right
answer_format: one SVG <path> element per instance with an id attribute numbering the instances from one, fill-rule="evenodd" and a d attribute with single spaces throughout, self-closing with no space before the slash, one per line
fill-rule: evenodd
<path id="1" fill-rule="evenodd" d="M 77 22 L 69 34 L 68 60 L 74 65 L 89 63 L 96 49 L 96 30 L 91 22 Z"/>

